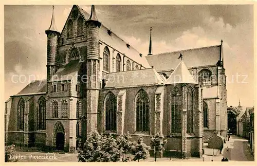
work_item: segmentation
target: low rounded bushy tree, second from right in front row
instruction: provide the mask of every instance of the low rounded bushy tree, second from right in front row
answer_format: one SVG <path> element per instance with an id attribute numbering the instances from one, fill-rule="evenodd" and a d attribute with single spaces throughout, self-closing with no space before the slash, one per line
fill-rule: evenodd
<path id="1" fill-rule="evenodd" d="M 140 159 L 147 159 L 150 154 L 149 154 L 150 146 L 147 146 L 143 142 L 142 136 L 139 137 L 137 142 L 132 143 L 132 155 L 134 155 L 133 161 L 138 161 Z"/>

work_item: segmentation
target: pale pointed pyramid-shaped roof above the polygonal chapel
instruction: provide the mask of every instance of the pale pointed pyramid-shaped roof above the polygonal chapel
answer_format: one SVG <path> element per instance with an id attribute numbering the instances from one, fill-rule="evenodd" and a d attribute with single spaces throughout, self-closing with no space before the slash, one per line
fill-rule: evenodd
<path id="1" fill-rule="evenodd" d="M 183 61 L 180 61 L 171 76 L 166 81 L 167 84 L 190 83 L 198 84 L 195 82 L 193 76 L 189 72 L 187 66 Z"/>

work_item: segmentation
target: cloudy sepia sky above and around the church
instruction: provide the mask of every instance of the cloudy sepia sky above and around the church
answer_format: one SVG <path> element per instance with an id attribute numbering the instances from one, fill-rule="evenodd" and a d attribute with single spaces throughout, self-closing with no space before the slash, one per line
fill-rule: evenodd
<path id="1" fill-rule="evenodd" d="M 80 5 L 90 13 L 90 6 Z M 96 5 L 98 19 L 143 55 L 152 27 L 153 54 L 224 44 L 228 106 L 254 100 L 252 5 Z M 56 5 L 61 32 L 72 5 Z M 32 80 L 46 79 L 50 5 L 5 5 L 5 100 Z M 19 76 L 13 79 L 13 76 Z"/>

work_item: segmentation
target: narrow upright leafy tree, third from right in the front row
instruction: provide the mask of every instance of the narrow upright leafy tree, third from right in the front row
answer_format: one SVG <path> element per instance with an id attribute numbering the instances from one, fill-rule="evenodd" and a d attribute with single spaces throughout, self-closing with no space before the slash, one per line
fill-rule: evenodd
<path id="1" fill-rule="evenodd" d="M 122 153 L 122 161 L 130 161 L 131 157 L 127 156 L 127 154 L 131 153 L 132 150 L 132 142 L 129 140 L 131 138 L 130 133 L 127 132 L 124 135 L 118 136 L 116 141 L 118 144 L 119 150 L 121 150 Z"/>

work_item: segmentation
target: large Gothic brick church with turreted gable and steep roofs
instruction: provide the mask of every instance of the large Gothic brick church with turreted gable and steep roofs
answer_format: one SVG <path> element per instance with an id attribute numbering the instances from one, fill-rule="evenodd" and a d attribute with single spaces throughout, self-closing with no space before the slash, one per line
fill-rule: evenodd
<path id="1" fill-rule="evenodd" d="M 227 136 L 223 41 L 153 54 L 151 32 L 143 55 L 97 19 L 94 5 L 90 14 L 74 5 L 61 32 L 53 8 L 47 78 L 5 102 L 5 143 L 69 151 L 95 130 L 148 145 L 159 133 L 164 153 L 201 157 L 209 137 Z"/>

